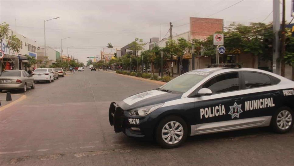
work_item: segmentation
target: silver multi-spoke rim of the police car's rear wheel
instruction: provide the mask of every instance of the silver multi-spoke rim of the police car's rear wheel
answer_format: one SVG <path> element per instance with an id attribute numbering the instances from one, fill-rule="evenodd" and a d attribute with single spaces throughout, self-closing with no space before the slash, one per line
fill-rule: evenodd
<path id="1" fill-rule="evenodd" d="M 281 130 L 288 129 L 292 124 L 292 115 L 288 110 L 282 110 L 277 117 L 277 125 Z"/>

